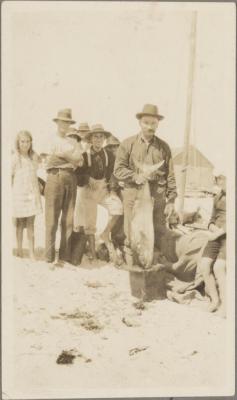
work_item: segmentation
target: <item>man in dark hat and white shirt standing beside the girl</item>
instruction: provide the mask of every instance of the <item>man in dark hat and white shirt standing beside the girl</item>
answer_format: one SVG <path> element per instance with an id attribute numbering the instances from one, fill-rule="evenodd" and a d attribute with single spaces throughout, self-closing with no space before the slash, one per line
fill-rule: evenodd
<path id="1" fill-rule="evenodd" d="M 76 200 L 76 175 L 74 170 L 82 163 L 82 152 L 76 142 L 66 137 L 70 125 L 74 124 L 70 109 L 58 112 L 53 121 L 57 133 L 50 144 L 47 160 L 45 186 L 46 261 L 55 261 L 55 240 L 61 214 L 61 239 L 59 259 L 69 261 L 70 237 L 73 228 L 73 213 Z"/>

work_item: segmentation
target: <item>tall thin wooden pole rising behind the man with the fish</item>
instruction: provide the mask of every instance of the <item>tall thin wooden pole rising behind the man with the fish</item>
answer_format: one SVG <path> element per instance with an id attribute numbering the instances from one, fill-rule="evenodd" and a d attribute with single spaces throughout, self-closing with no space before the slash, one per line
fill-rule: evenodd
<path id="1" fill-rule="evenodd" d="M 187 178 L 189 141 L 190 141 L 191 119 L 192 119 L 192 95 L 193 95 L 193 81 L 194 81 L 194 68 L 195 68 L 195 52 L 196 52 L 196 28 L 197 28 L 197 11 L 194 11 L 192 13 L 192 22 L 191 22 L 191 31 L 190 31 L 188 94 L 187 94 L 187 105 L 186 105 L 184 153 L 183 153 L 183 162 L 182 162 L 180 204 L 179 204 L 179 213 L 180 213 L 181 223 L 183 222 L 183 213 L 184 213 L 184 195 L 185 195 L 186 178 Z"/>

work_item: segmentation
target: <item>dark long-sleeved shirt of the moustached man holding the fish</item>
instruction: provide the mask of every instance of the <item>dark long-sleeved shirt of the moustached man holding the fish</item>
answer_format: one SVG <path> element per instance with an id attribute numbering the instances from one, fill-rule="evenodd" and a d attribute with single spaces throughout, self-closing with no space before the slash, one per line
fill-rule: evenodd
<path id="1" fill-rule="evenodd" d="M 164 161 L 163 165 L 150 181 L 151 192 L 165 192 L 167 201 L 173 202 L 177 197 L 177 190 L 171 150 L 157 136 L 149 143 L 141 133 L 124 140 L 117 152 L 114 175 L 124 181 L 125 187 L 136 187 L 135 177 L 140 172 L 138 165 L 154 165 L 161 161 Z"/>

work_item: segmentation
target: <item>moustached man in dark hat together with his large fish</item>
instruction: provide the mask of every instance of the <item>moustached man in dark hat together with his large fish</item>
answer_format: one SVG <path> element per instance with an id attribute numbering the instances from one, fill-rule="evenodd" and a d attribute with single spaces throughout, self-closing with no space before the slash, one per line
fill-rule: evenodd
<path id="1" fill-rule="evenodd" d="M 134 240 L 142 256 L 147 244 L 152 243 L 146 260 L 140 260 L 143 267 L 150 267 L 154 230 L 157 237 L 165 233 L 166 217 L 174 211 L 177 191 L 171 150 L 165 141 L 155 136 L 159 121 L 164 117 L 159 114 L 157 106 L 152 104 L 146 104 L 136 117 L 141 130 L 121 143 L 114 175 L 124 182 L 126 261 L 129 265 L 134 262 Z"/>

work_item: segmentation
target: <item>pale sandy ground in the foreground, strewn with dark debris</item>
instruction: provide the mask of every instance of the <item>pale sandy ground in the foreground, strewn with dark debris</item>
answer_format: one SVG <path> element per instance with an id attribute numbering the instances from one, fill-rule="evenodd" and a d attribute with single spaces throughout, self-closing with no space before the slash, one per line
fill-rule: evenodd
<path id="1" fill-rule="evenodd" d="M 43 219 L 36 221 L 42 245 Z M 50 270 L 13 257 L 17 398 L 221 393 L 226 320 L 169 300 L 134 307 L 128 272 L 112 265 Z M 58 364 L 73 350 L 72 364 Z M 123 390 L 123 391 L 122 391 Z M 10 398 L 14 398 L 9 394 Z"/>

